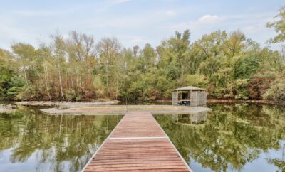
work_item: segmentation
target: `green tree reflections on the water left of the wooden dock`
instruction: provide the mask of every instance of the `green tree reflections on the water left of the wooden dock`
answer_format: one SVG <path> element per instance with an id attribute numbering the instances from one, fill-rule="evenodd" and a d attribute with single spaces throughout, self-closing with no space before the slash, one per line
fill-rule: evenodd
<path id="1" fill-rule="evenodd" d="M 14 147 L 11 161 L 25 162 L 36 153 L 37 170 L 80 171 L 121 117 L 47 116 L 21 109 L 0 118 L 0 150 Z M 71 163 L 68 164 L 68 163 Z"/>

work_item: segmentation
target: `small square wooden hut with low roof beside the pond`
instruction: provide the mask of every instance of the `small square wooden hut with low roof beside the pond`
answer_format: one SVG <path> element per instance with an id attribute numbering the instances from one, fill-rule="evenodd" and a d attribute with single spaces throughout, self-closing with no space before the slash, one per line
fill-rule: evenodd
<path id="1" fill-rule="evenodd" d="M 172 92 L 172 105 L 189 104 L 192 107 L 206 106 L 206 100 L 207 93 L 202 88 L 188 86 L 177 88 Z"/>

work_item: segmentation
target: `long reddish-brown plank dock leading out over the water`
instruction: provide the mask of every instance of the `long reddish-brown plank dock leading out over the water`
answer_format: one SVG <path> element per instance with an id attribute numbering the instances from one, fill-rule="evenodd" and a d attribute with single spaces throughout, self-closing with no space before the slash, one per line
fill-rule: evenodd
<path id="1" fill-rule="evenodd" d="M 82 171 L 191 171 L 150 112 L 128 112 Z"/>

